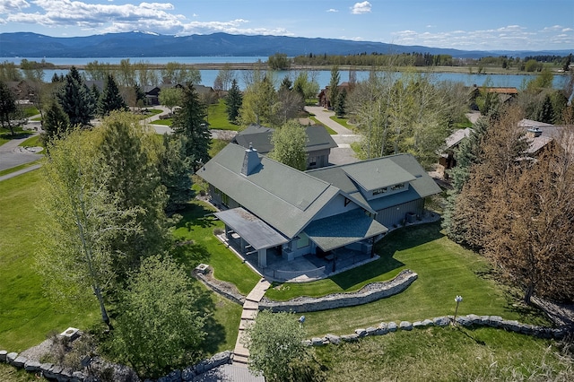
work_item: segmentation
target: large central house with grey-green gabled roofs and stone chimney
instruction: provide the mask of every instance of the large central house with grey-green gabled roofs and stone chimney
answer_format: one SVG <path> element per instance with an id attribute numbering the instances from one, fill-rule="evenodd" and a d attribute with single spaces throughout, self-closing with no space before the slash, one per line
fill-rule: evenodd
<path id="1" fill-rule="evenodd" d="M 292 260 L 339 247 L 371 253 L 388 226 L 412 222 L 440 188 L 410 154 L 314 169 L 292 169 L 230 143 L 196 174 L 209 183 L 215 213 L 244 254 L 267 250 Z"/>

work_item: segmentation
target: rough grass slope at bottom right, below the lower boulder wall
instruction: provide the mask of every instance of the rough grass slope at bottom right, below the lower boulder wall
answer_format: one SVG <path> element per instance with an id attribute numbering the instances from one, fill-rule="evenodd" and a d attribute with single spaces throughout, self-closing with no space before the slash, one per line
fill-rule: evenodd
<path id="1" fill-rule="evenodd" d="M 327 381 L 568 381 L 555 343 L 494 328 L 431 327 L 316 348 Z"/>

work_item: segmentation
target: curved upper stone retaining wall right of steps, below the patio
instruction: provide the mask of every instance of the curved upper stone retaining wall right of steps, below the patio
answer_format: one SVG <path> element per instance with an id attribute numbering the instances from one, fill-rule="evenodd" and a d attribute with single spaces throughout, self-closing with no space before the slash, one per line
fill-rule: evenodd
<path id="1" fill-rule="evenodd" d="M 333 308 L 353 307 L 367 304 L 372 301 L 384 299 L 404 291 L 417 279 L 418 275 L 406 269 L 398 273 L 388 282 L 372 282 L 361 288 L 360 291 L 350 293 L 334 293 L 324 297 L 297 297 L 288 301 L 274 301 L 263 298 L 259 302 L 259 310 L 269 309 L 274 312 L 314 312 Z"/>

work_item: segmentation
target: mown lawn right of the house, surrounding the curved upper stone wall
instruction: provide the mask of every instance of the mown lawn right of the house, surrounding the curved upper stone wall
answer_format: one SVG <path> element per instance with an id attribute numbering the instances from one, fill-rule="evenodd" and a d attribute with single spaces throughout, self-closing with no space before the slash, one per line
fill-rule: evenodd
<path id="1" fill-rule="evenodd" d="M 392 278 L 411 269 L 419 278 L 406 291 L 387 299 L 352 308 L 306 314 L 309 334 L 350 334 L 355 328 L 377 326 L 382 321 L 416 321 L 454 314 L 455 296 L 461 295 L 458 313 L 496 315 L 537 325 L 550 325 L 538 310 L 525 307 L 517 296 L 492 280 L 481 256 L 465 250 L 440 233 L 439 223 L 391 232 L 377 246 L 382 258 L 375 264 L 317 282 L 317 289 L 353 291 L 365 282 Z M 314 283 L 289 284 L 285 295 L 311 294 Z M 281 288 L 281 287 L 280 287 Z M 268 291 L 273 296 L 279 291 Z"/>

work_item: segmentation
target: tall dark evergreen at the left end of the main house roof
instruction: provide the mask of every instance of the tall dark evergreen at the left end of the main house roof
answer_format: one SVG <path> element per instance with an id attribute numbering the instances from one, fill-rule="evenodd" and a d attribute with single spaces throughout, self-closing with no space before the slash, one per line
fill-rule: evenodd
<path id="1" fill-rule="evenodd" d="M 181 109 L 173 117 L 171 128 L 176 135 L 186 137 L 186 156 L 195 162 L 194 168 L 198 163 L 209 161 L 211 137 L 205 116 L 205 105 L 199 100 L 193 84 L 185 87 Z"/>

